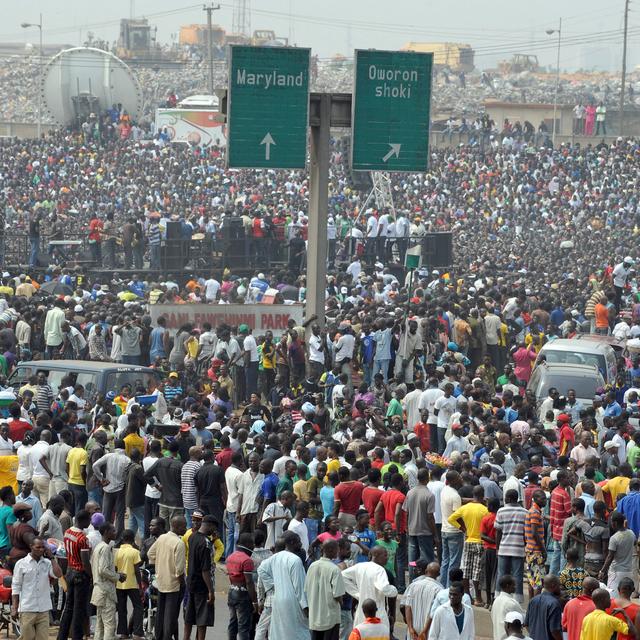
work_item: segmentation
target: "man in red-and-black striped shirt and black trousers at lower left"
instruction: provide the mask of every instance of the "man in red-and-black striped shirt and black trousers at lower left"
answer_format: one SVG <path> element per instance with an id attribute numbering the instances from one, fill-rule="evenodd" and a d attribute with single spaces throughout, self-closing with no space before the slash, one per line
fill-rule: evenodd
<path id="1" fill-rule="evenodd" d="M 91 524 L 86 509 L 76 513 L 75 525 L 64 532 L 64 549 L 67 553 L 67 601 L 60 618 L 59 640 L 66 640 L 71 631 L 73 640 L 84 638 L 84 623 L 91 597 L 91 545 L 84 530 Z"/>

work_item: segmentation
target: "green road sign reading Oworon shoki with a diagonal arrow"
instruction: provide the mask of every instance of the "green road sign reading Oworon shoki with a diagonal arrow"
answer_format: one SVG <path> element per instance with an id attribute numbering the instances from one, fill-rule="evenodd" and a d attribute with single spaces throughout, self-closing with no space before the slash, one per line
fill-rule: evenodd
<path id="1" fill-rule="evenodd" d="M 425 171 L 433 54 L 356 51 L 351 165 L 356 171 Z"/>

